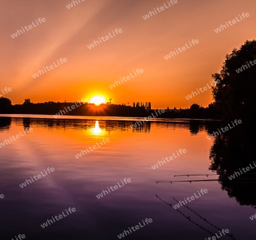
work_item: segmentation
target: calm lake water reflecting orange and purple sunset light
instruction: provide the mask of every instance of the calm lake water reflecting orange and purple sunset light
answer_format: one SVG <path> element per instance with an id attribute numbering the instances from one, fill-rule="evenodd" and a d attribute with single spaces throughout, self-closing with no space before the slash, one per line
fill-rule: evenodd
<path id="1" fill-rule="evenodd" d="M 7 116 L 0 117 L 1 239 L 24 234 L 26 239 L 204 240 L 220 236 L 222 229 L 229 230 L 223 240 L 256 239 L 256 220 L 249 218 L 255 209 L 242 204 L 249 192 L 237 201 L 235 188 L 218 181 L 156 183 L 218 179 L 209 170 L 218 148 L 207 138 L 218 123 L 157 119 L 132 129 L 138 119 Z M 46 175 L 47 168 L 54 171 Z M 42 178 L 20 187 L 39 174 Z M 213 175 L 174 177 L 186 174 Z M 197 197 L 177 210 L 168 205 L 191 196 Z M 68 208 L 75 212 L 68 215 Z M 62 219 L 41 226 L 63 212 Z"/>

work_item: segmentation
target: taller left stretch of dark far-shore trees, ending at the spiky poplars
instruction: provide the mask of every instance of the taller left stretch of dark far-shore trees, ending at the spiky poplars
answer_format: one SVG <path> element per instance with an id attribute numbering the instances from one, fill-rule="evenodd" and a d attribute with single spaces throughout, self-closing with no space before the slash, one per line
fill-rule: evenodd
<path id="1" fill-rule="evenodd" d="M 13 114 L 42 114 L 42 115 L 62 115 L 73 116 L 148 116 L 151 111 L 151 103 L 133 104 L 135 107 L 126 104 L 101 104 L 95 106 L 90 103 L 60 103 L 45 102 L 32 103 L 30 99 L 25 99 L 23 104 L 11 104 L 11 100 L 0 98 L 0 113 Z M 71 108 L 73 106 L 73 109 Z"/>

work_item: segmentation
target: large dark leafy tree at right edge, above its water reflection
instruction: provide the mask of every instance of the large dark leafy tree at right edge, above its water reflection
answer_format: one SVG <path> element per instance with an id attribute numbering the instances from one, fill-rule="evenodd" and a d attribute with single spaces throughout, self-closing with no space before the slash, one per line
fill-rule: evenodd
<path id="1" fill-rule="evenodd" d="M 216 107 L 224 120 L 250 120 L 255 112 L 253 106 L 254 81 L 256 77 L 256 41 L 246 40 L 240 49 L 227 54 L 220 73 L 212 74 L 220 83 L 212 93 Z"/>

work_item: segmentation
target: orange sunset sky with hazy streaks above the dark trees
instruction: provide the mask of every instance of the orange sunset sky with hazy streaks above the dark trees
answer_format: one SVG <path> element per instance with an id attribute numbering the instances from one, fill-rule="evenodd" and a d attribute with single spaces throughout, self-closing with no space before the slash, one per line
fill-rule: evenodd
<path id="1" fill-rule="evenodd" d="M 75 102 L 94 95 L 112 103 L 151 102 L 152 108 L 185 108 L 193 103 L 207 107 L 211 90 L 192 99 L 185 96 L 212 81 L 226 54 L 246 40 L 256 39 L 255 0 L 177 0 L 149 19 L 142 16 L 168 6 L 163 0 L 85 0 L 68 9 L 71 0 L 1 1 L 1 86 L 11 87 L 5 97 L 13 104 Z M 229 20 L 249 17 L 221 32 Z M 45 18 L 29 31 L 17 30 Z M 115 29 L 121 33 L 89 49 L 98 37 Z M 113 35 L 113 33 L 112 33 Z M 191 40 L 195 46 L 168 60 L 164 56 Z M 60 58 L 67 62 L 37 78 L 32 75 Z M 110 89 L 109 85 L 133 70 L 137 77 Z"/>

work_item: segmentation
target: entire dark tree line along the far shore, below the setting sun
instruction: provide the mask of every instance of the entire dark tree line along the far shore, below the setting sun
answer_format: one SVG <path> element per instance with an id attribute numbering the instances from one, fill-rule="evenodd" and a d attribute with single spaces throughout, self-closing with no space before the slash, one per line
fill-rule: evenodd
<path id="1" fill-rule="evenodd" d="M 71 110 L 71 106 L 75 108 Z M 69 111 L 68 110 L 71 110 Z M 62 114 L 61 114 L 62 112 Z M 90 103 L 55 103 L 52 101 L 45 103 L 32 103 L 30 99 L 25 99 L 23 104 L 11 104 L 11 100 L 0 98 L 0 113 L 13 114 L 42 114 L 42 115 L 72 115 L 72 116 L 128 116 L 128 117 L 147 117 L 154 112 L 151 110 L 150 102 L 137 102 L 133 106 L 128 104 L 101 104 L 95 106 Z M 209 107 L 200 107 L 198 104 L 192 104 L 187 110 L 179 112 L 164 112 L 158 117 L 167 118 L 192 118 L 192 119 L 218 119 L 220 114 L 214 108 L 213 104 Z"/>

